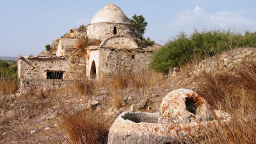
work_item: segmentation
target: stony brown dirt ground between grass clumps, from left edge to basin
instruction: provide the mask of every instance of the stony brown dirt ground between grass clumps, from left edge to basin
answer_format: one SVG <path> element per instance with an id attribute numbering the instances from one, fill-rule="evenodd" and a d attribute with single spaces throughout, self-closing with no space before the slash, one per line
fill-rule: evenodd
<path id="1" fill-rule="evenodd" d="M 132 104 L 138 104 L 144 98 L 148 98 L 147 108 L 139 111 L 157 112 L 167 93 L 177 88 L 189 88 L 189 84 L 191 79 L 180 70 L 172 76 L 162 76 L 152 86 L 141 89 L 125 88 L 118 92 L 126 103 L 120 109 L 113 108 L 109 90 L 97 82 L 93 86 L 93 94 L 89 96 L 79 96 L 72 90 L 64 93 L 48 92 L 44 99 L 33 93 L 8 96 L 7 100 L 3 100 L 6 106 L 1 108 L 0 143 L 70 143 L 59 125 L 61 115 L 65 115 L 64 108 L 79 108 L 89 99 L 97 100 L 99 104 L 94 108 L 95 112 L 109 115 L 109 122 L 113 122 L 120 113 L 128 111 Z M 6 115 L 12 110 L 15 114 L 8 118 Z"/>

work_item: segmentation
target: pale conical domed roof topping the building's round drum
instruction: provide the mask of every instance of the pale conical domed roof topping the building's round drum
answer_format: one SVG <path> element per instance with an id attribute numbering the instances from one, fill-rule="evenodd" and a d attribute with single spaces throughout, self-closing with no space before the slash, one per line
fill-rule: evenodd
<path id="1" fill-rule="evenodd" d="M 108 4 L 104 6 L 92 19 L 91 24 L 98 22 L 115 22 L 130 24 L 130 20 L 126 17 L 124 12 L 115 4 Z"/>

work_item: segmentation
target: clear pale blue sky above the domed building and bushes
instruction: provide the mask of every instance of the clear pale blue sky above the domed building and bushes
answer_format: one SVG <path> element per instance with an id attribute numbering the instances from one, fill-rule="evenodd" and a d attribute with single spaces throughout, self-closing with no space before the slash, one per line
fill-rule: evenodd
<path id="1" fill-rule="evenodd" d="M 143 15 L 145 37 L 159 44 L 194 29 L 256 31 L 255 0 L 0 0 L 0 56 L 38 54 L 69 29 L 88 24 L 106 4 Z"/>

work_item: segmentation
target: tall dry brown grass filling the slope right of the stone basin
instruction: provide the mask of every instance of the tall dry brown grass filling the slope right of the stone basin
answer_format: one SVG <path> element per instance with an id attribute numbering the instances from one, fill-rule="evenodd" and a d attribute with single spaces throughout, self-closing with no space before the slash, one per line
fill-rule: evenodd
<path id="1" fill-rule="evenodd" d="M 256 64 L 243 63 L 234 73 L 207 74 L 196 79 L 196 91 L 204 95 L 212 107 L 232 116 L 227 124 L 186 143 L 256 143 Z"/>

